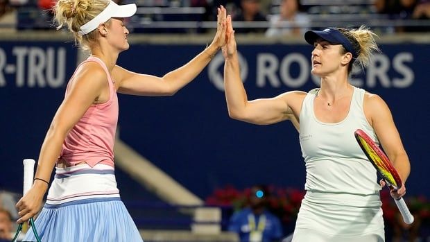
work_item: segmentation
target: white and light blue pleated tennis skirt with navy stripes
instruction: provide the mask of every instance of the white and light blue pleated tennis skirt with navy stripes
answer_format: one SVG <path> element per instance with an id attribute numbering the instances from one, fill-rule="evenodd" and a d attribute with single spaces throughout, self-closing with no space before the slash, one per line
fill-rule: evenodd
<path id="1" fill-rule="evenodd" d="M 143 241 L 105 164 L 57 167 L 35 226 L 43 242 Z M 31 229 L 24 241 L 36 241 Z"/>

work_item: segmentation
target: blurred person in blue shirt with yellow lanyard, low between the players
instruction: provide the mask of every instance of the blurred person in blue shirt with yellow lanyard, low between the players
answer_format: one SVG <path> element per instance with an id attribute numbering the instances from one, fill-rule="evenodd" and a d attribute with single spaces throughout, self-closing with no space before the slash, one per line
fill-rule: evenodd
<path id="1" fill-rule="evenodd" d="M 266 210 L 268 196 L 266 187 L 252 187 L 248 196 L 250 206 L 230 218 L 228 230 L 236 232 L 241 242 L 271 242 L 282 238 L 279 218 Z"/>

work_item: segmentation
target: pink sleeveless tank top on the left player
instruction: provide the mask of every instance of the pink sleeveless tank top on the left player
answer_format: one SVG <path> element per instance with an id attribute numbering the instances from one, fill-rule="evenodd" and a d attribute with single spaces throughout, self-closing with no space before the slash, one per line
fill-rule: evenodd
<path id="1" fill-rule="evenodd" d="M 82 118 L 76 123 L 62 144 L 59 159 L 74 166 L 86 162 L 89 166 L 98 163 L 114 166 L 114 139 L 118 123 L 118 96 L 114 87 L 114 80 L 110 76 L 105 63 L 90 56 L 84 62 L 98 62 L 103 67 L 109 83 L 110 97 L 105 103 L 91 105 Z M 76 68 L 78 69 L 78 68 Z M 73 78 L 73 76 L 72 76 Z M 67 84 L 66 96 L 69 90 Z"/>

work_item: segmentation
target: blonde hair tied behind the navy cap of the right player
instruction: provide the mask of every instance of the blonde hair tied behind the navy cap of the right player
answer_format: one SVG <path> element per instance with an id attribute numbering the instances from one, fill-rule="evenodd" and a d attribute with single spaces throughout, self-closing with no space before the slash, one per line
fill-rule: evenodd
<path id="1" fill-rule="evenodd" d="M 354 64 L 360 65 L 361 69 L 364 69 L 368 66 L 370 62 L 370 58 L 372 58 L 373 53 L 380 52 L 379 47 L 375 41 L 375 37 L 377 35 L 373 33 L 366 26 L 360 26 L 360 28 L 336 28 L 340 31 L 348 40 L 350 40 L 354 50 L 359 55 L 356 58 L 356 61 L 350 62 L 348 66 L 348 73 L 351 72 Z M 346 49 L 344 49 L 344 53 L 346 53 Z"/>

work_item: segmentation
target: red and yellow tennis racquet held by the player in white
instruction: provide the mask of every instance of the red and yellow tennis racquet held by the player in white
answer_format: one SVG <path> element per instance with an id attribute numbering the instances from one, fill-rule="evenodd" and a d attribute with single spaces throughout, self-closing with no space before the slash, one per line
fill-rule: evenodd
<path id="1" fill-rule="evenodd" d="M 359 145 L 365 155 L 369 158 L 370 162 L 375 166 L 379 175 L 385 180 L 386 184 L 390 188 L 399 189 L 402 187 L 402 179 L 399 173 L 395 170 L 390 159 L 385 155 L 384 151 L 379 148 L 377 144 L 363 131 L 355 130 L 355 139 L 359 142 Z M 395 199 L 395 204 L 399 208 L 400 214 L 402 214 L 404 223 L 413 223 L 413 216 L 406 206 L 403 198 Z"/>

